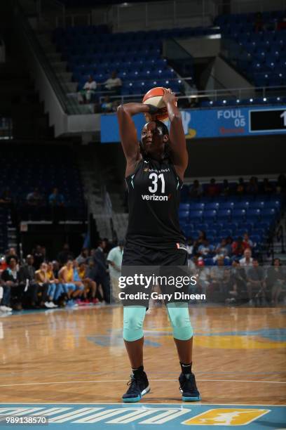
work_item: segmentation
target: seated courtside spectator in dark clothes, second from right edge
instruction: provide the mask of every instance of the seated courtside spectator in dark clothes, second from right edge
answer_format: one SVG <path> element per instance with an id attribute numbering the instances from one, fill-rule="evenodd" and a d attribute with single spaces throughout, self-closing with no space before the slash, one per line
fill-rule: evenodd
<path id="1" fill-rule="evenodd" d="M 261 304 L 266 305 L 266 282 L 263 268 L 259 268 L 257 259 L 252 260 L 252 267 L 247 271 L 247 293 L 250 306 L 254 305 L 254 299 L 261 299 Z"/>

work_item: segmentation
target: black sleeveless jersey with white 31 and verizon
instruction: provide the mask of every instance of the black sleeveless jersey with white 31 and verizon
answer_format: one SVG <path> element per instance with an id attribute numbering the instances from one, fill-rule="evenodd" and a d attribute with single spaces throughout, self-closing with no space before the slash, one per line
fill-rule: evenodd
<path id="1" fill-rule="evenodd" d="M 185 238 L 179 227 L 182 181 L 169 159 L 142 159 L 126 179 L 129 220 L 127 244 L 179 249 Z"/>

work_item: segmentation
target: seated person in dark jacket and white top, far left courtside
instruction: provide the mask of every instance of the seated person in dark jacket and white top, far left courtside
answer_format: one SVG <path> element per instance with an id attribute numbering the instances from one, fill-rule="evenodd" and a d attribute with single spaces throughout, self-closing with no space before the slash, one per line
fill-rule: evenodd
<path id="1" fill-rule="evenodd" d="M 7 266 L 1 273 L 1 285 L 4 288 L 2 306 L 9 308 L 11 304 L 15 311 L 21 311 L 24 288 L 20 285 L 18 258 L 13 255 L 8 256 Z"/>

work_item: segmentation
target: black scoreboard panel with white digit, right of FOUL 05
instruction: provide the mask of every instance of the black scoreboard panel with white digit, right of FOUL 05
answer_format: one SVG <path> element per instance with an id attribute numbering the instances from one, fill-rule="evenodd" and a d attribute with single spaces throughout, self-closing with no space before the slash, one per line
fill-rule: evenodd
<path id="1" fill-rule="evenodd" d="M 250 110 L 250 133 L 286 131 L 285 109 Z"/>

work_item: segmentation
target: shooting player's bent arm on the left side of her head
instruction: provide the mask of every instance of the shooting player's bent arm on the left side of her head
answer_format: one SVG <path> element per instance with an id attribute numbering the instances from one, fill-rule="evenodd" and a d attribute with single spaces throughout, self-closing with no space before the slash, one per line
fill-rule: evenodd
<path id="1" fill-rule="evenodd" d="M 154 110 L 154 107 L 142 103 L 125 103 L 117 108 L 121 144 L 127 162 L 136 162 L 140 157 L 137 131 L 132 116 L 138 113 L 148 115 L 150 109 Z"/>

